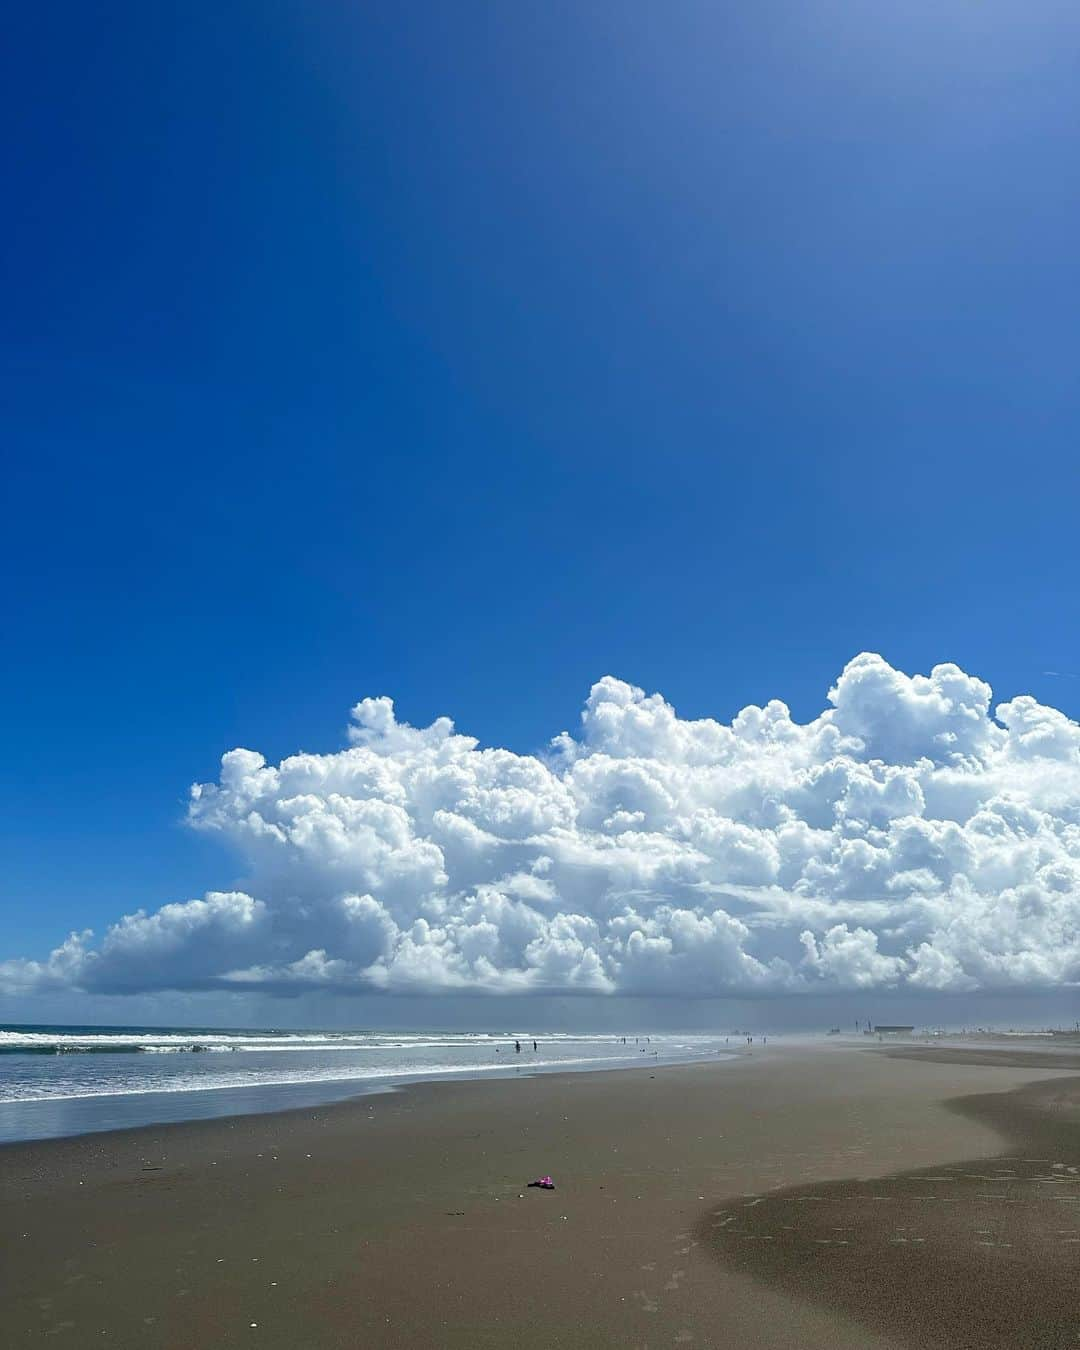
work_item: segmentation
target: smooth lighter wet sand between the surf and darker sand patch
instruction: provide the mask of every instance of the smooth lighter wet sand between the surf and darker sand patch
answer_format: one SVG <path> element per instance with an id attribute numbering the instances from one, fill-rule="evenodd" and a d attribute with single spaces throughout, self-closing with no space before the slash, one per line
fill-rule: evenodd
<path id="1" fill-rule="evenodd" d="M 644 1068 L 8 1145 L 4 1343 L 918 1345 L 718 1261 L 703 1216 L 999 1156 L 946 1103 L 1077 1072 L 782 1045 Z"/>

